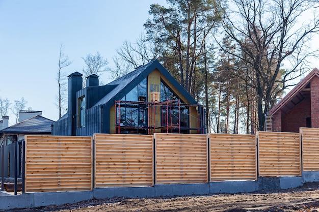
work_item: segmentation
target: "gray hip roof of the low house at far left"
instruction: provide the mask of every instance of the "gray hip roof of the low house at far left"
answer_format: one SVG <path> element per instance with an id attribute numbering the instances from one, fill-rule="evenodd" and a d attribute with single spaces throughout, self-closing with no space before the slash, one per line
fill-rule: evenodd
<path id="1" fill-rule="evenodd" d="M 51 125 L 54 123 L 53 120 L 37 115 L 0 130 L 0 133 L 50 133 Z"/>

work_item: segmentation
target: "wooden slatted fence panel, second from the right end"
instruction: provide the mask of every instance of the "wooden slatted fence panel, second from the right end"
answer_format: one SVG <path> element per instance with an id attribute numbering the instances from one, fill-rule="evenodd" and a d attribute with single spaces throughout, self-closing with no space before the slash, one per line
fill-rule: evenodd
<path id="1" fill-rule="evenodd" d="M 259 176 L 300 176 L 299 133 L 257 132 Z"/>

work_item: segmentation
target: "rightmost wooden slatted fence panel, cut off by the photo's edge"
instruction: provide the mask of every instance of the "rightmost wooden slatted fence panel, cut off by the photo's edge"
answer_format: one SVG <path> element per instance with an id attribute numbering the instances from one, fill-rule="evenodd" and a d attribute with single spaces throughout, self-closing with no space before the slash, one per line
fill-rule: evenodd
<path id="1" fill-rule="evenodd" d="M 319 171 L 319 128 L 300 128 L 302 136 L 302 170 Z"/>

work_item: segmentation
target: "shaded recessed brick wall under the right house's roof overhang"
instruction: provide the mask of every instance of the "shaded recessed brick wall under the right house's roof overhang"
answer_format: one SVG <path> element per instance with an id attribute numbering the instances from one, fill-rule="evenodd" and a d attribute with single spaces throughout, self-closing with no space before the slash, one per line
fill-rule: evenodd
<path id="1" fill-rule="evenodd" d="M 311 103 L 310 98 L 305 98 L 293 109 L 281 118 L 281 130 L 282 132 L 299 132 L 300 127 L 306 126 L 306 118 L 311 117 Z"/>

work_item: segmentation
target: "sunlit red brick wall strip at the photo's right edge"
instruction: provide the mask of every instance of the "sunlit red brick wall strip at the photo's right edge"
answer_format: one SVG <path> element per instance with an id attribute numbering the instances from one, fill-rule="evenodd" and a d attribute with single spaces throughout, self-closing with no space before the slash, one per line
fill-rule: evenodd
<path id="1" fill-rule="evenodd" d="M 311 127 L 319 127 L 319 77 L 315 76 L 310 81 L 311 96 Z"/>

